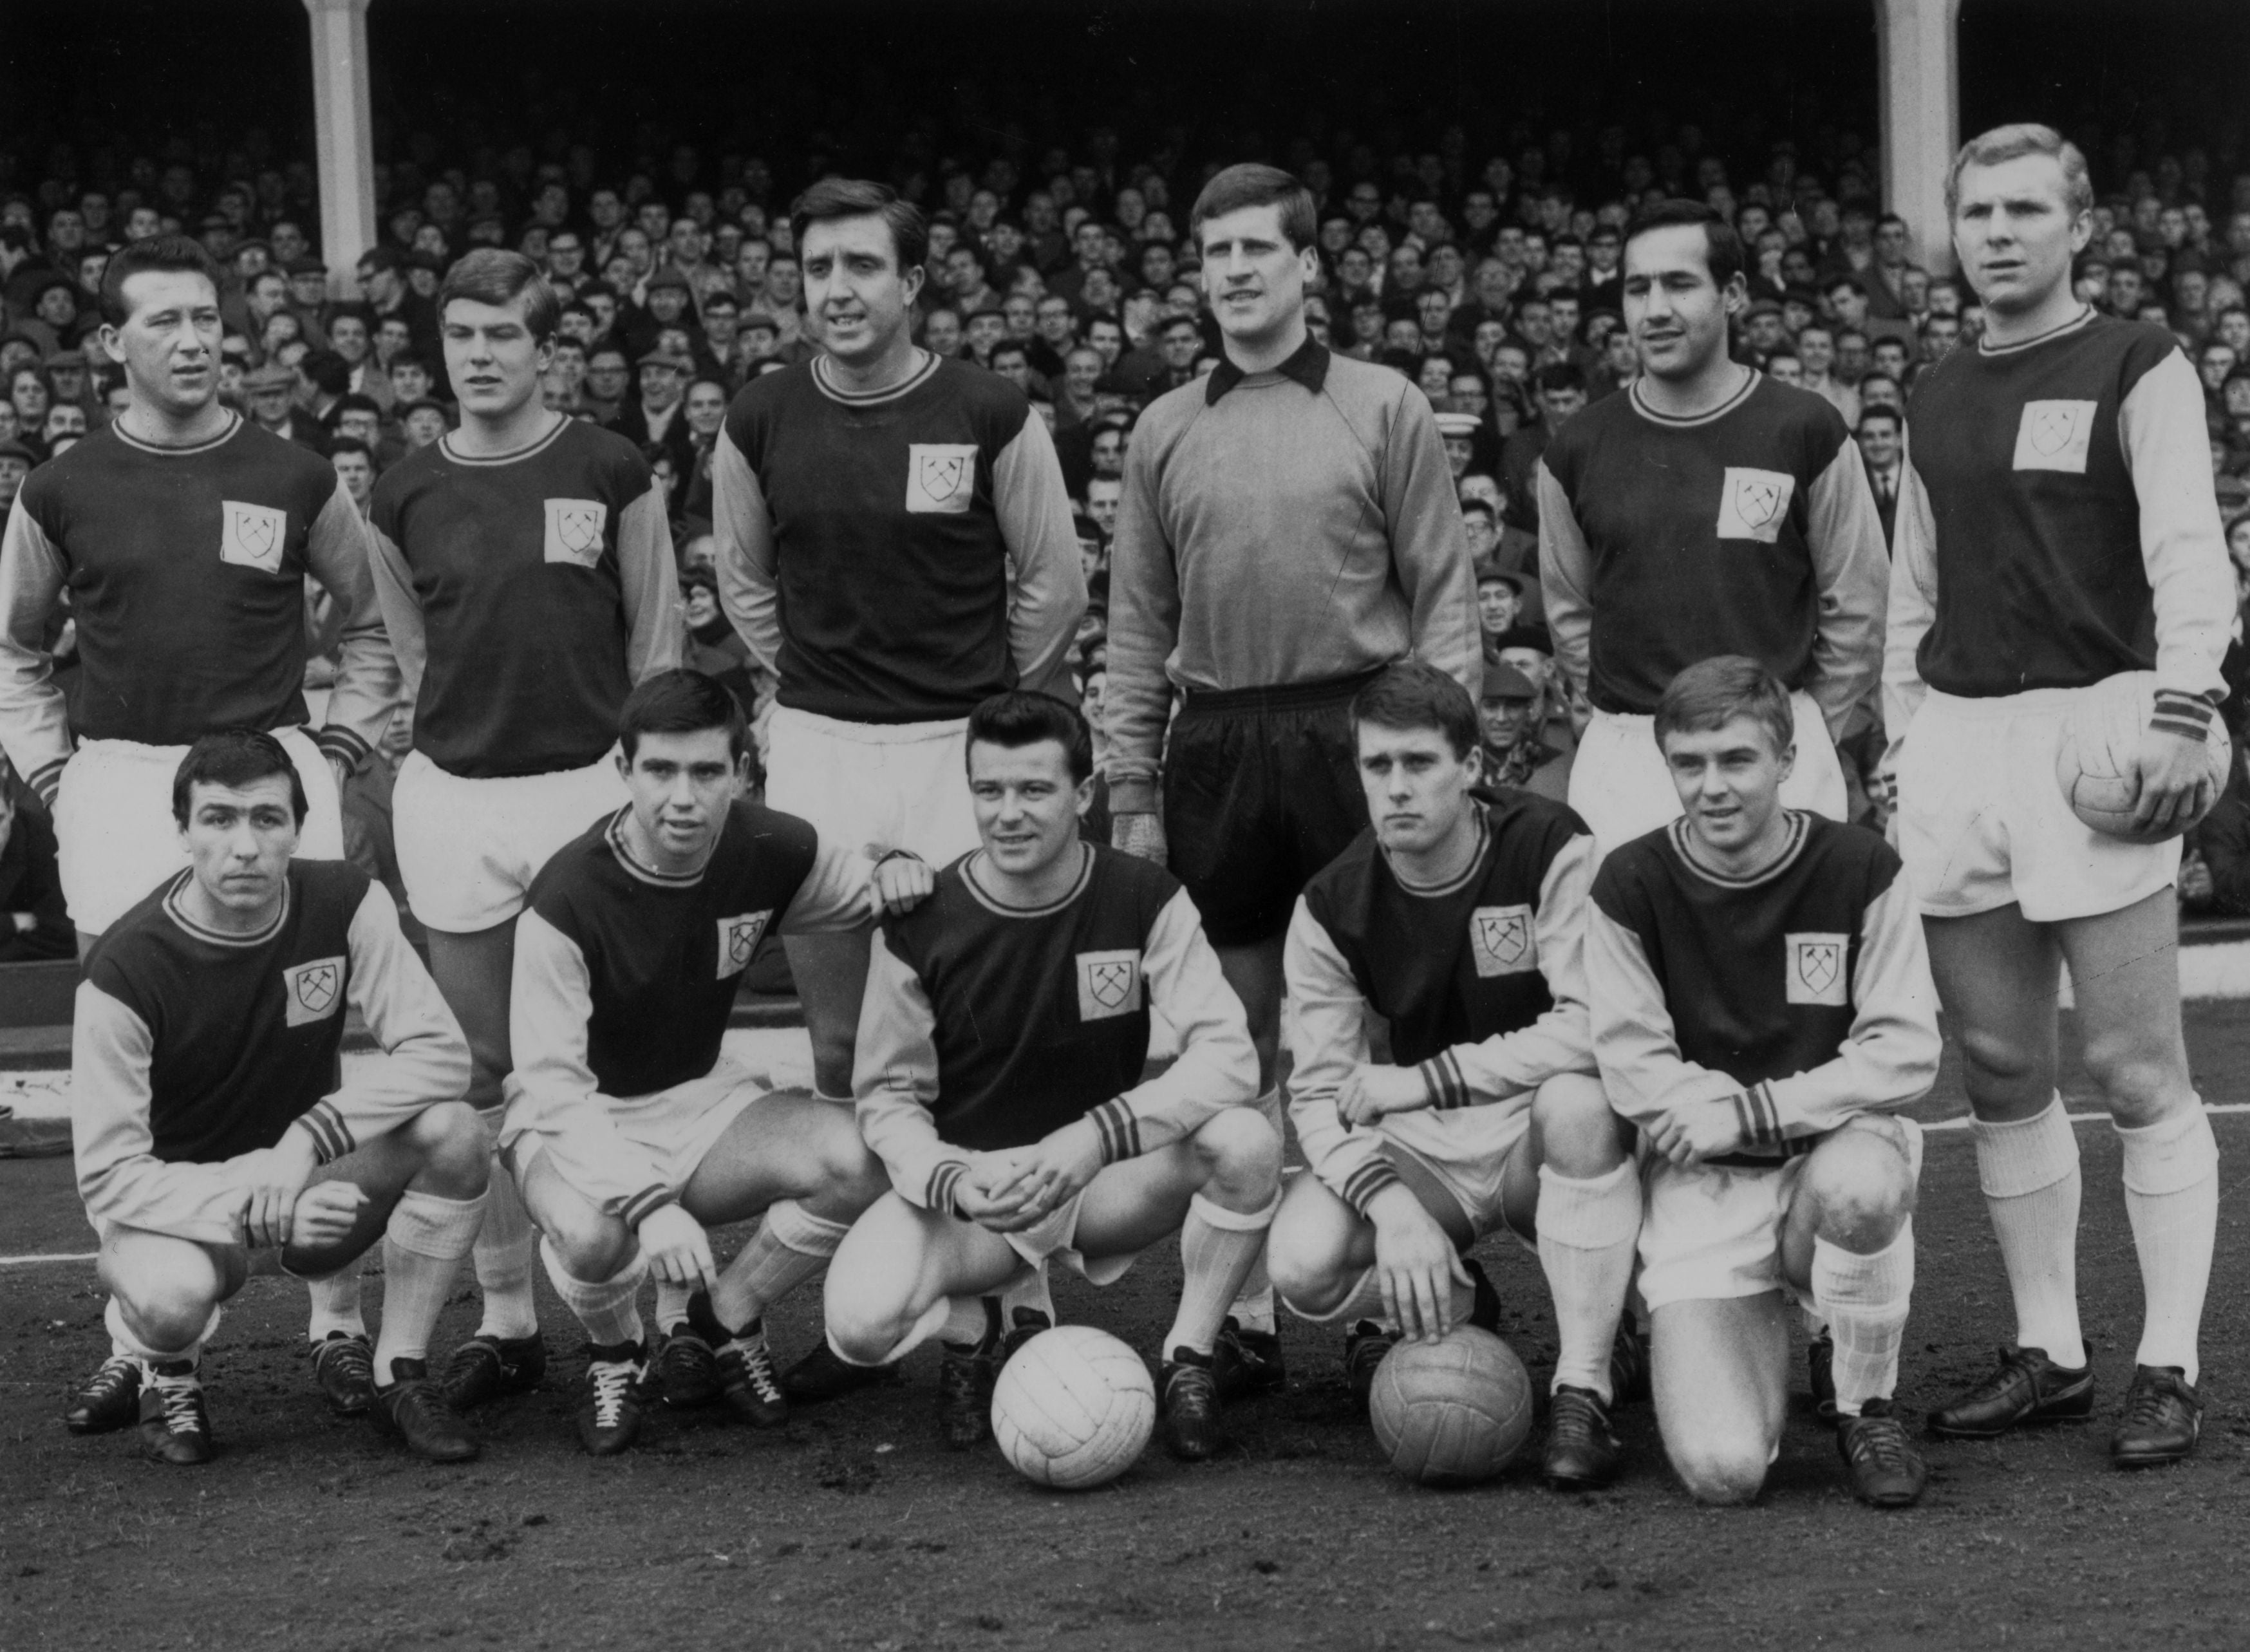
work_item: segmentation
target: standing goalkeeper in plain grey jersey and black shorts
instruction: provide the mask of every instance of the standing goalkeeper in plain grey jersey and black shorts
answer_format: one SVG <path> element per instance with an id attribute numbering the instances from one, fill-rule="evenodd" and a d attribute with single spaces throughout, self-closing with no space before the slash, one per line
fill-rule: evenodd
<path id="1" fill-rule="evenodd" d="M 1170 864 L 1204 914 L 1278 1134 L 1289 912 L 1368 824 L 1348 707 L 1406 655 L 1474 698 L 1476 581 L 1429 401 L 1305 331 L 1312 194 L 1274 167 L 1228 167 L 1188 225 L 1224 360 L 1134 425 L 1105 772 L 1118 849 Z M 1186 707 L 1166 745 L 1174 689 Z M 1278 1386 L 1262 1276 L 1238 1308 L 1228 1391 Z"/>

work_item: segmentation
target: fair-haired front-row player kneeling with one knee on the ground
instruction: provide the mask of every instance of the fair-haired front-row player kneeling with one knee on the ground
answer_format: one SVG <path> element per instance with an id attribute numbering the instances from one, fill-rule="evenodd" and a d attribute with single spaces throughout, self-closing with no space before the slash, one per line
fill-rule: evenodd
<path id="1" fill-rule="evenodd" d="M 1739 655 L 1678 673 L 1656 740 L 1685 815 L 1593 880 L 1586 986 L 1611 1105 L 1640 1125 L 1656 1425 L 1710 1503 L 1757 1494 L 1789 1402 L 1782 1294 L 1834 1335 L 1838 1452 L 1879 1508 L 1922 1497 L 1892 1411 L 1915 1285 L 1937 995 L 1899 858 L 1782 808 L 1791 713 Z"/>

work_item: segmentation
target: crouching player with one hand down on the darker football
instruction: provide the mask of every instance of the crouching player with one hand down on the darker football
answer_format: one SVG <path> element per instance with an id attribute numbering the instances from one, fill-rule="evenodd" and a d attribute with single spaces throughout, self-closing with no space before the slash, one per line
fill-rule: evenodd
<path id="1" fill-rule="evenodd" d="M 1492 1330 L 1498 1303 L 1460 1254 L 1503 1224 L 1534 1238 L 1562 1330 L 1546 1476 L 1602 1485 L 1609 1407 L 1642 1368 L 1638 1339 L 1618 1341 L 1640 1182 L 1586 1029 L 1593 837 L 1562 803 L 1472 790 L 1476 707 L 1431 666 L 1384 671 L 1352 727 L 1372 826 L 1289 921 L 1289 1112 L 1314 1175 L 1289 1188 L 1267 1265 L 1294 1312 L 1352 1326 L 1364 1404 L 1386 1321 Z M 1390 1062 L 1368 1060 L 1375 1017 Z"/>

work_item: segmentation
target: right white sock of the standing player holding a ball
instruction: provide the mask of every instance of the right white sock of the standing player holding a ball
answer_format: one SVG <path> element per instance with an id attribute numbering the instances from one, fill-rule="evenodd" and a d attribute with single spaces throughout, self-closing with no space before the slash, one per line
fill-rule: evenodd
<path id="1" fill-rule="evenodd" d="M 2218 1141 L 2196 1101 L 2187 1112 L 2140 1130 L 2120 1130 L 2124 1143 L 2124 1211 L 2140 1251 L 2146 1321 L 2140 1332 L 2144 1366 L 2178 1366 L 2194 1382 L 2196 1332 L 2203 1294 L 2212 1283 L 2212 1242 L 2218 1238 Z"/>

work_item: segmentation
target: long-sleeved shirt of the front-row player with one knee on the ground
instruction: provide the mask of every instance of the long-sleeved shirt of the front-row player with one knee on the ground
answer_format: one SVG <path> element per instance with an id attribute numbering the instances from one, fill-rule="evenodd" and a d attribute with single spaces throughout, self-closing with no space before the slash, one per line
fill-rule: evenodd
<path id="1" fill-rule="evenodd" d="M 1937 1080 L 1937 988 L 1897 853 L 1818 815 L 1789 828 L 1750 878 L 1699 867 L 1681 819 L 1593 880 L 1586 993 L 1609 1105 L 1634 1123 L 1730 1105 L 1739 1148 L 1714 1164 L 1804 1152 Z"/>

